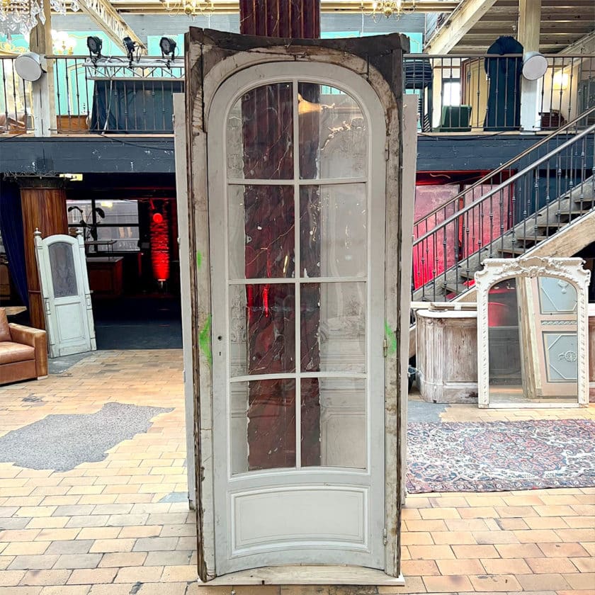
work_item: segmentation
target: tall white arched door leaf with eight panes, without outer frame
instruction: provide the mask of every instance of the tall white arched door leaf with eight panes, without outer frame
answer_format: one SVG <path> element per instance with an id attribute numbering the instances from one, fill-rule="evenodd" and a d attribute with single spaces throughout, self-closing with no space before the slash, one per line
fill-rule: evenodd
<path id="1" fill-rule="evenodd" d="M 382 569 L 380 101 L 352 72 L 291 62 L 235 74 L 212 106 L 217 574 Z"/>

